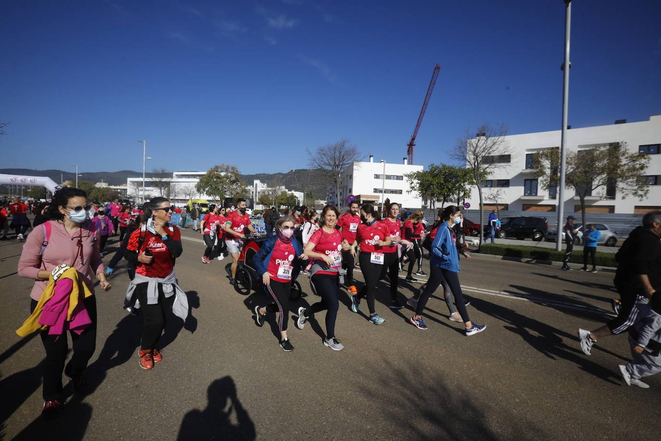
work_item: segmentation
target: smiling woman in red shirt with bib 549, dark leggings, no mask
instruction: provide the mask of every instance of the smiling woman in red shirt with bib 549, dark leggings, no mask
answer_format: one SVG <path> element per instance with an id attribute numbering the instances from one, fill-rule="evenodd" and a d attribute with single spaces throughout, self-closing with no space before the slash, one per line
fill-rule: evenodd
<path id="1" fill-rule="evenodd" d="M 340 231 L 335 229 L 339 212 L 332 205 L 321 210 L 321 228 L 315 231 L 305 247 L 305 255 L 315 259 L 310 276 L 310 284 L 321 301 L 305 308 L 298 309 L 298 329 L 303 329 L 309 315 L 327 309 L 326 338 L 323 343 L 332 350 L 342 350 L 344 346 L 335 338 L 335 321 L 340 307 L 338 290 L 340 288 L 339 272 L 342 270 L 342 250 L 348 251 L 351 245 L 342 240 Z"/>

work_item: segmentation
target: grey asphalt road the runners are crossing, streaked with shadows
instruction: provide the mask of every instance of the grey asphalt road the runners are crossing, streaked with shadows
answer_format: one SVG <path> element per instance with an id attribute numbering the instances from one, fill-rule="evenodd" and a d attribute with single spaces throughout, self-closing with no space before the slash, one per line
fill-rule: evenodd
<path id="1" fill-rule="evenodd" d="M 142 319 L 121 307 L 128 283 L 122 262 L 112 291 L 97 293 L 97 350 L 87 370 L 93 392 L 70 397 L 67 413 L 53 423 L 39 418 L 41 342 L 15 334 L 28 316 L 32 282 L 16 274 L 20 243 L 0 243 L 4 439 L 659 438 L 661 378 L 649 378 L 646 390 L 620 380 L 617 364 L 629 360 L 626 337 L 603 339 L 589 357 L 578 348 L 576 329 L 608 318 L 617 296 L 610 273 L 463 259 L 469 314 L 486 323 L 485 332 L 465 337 L 438 298 L 428 303 L 429 329 L 420 331 L 407 323 L 410 310 L 387 308 L 379 284 L 383 325 L 352 313 L 342 296 L 336 334 L 346 349 L 321 344 L 320 313 L 321 328 L 311 321 L 299 331 L 290 321 L 295 350 L 286 353 L 274 317 L 254 325 L 251 309 L 266 296 L 239 296 L 227 284 L 228 261 L 202 264 L 200 235 L 183 235 L 176 273 L 192 317 L 183 327 L 171 321 L 163 362 L 149 371 L 138 366 Z M 401 282 L 402 298 L 418 286 Z M 305 276 L 301 284 L 310 293 Z M 300 303 L 307 301 L 313 294 Z"/>

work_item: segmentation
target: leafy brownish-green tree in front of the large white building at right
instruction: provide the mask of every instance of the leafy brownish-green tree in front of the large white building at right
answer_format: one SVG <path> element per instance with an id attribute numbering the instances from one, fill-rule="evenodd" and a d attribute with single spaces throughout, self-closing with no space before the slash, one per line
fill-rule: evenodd
<path id="1" fill-rule="evenodd" d="M 615 142 L 592 149 L 568 151 L 564 184 L 574 188 L 580 200 L 582 225 L 586 225 L 585 200 L 598 192 L 605 197 L 607 190 L 642 200 L 649 193 L 645 171 L 650 157 L 644 153 L 629 153 L 627 143 Z M 547 190 L 559 182 L 560 149 L 554 147 L 535 153 L 532 167 L 539 184 Z M 562 204 L 564 201 L 560 201 Z"/>

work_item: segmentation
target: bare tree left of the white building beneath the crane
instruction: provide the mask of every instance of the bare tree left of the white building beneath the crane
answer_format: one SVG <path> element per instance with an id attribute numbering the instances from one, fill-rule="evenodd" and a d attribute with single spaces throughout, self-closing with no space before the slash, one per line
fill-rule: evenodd
<path id="1" fill-rule="evenodd" d="M 356 145 L 343 138 L 333 144 L 321 145 L 314 153 L 307 149 L 309 165 L 313 169 L 323 170 L 327 179 L 335 184 L 335 198 L 340 204 L 340 175 L 342 172 L 362 159 L 362 154 Z"/>

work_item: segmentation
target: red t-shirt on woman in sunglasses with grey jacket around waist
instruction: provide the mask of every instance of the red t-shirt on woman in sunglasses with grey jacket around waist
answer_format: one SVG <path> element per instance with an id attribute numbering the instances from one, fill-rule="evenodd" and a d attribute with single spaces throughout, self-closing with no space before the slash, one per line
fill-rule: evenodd
<path id="1" fill-rule="evenodd" d="M 181 233 L 177 227 L 166 225 L 163 229 L 165 229 L 167 235 L 169 235 L 171 239 L 181 241 Z M 143 236 L 144 241 L 141 249 L 138 250 L 137 244 L 140 235 Z M 152 234 L 149 230 L 141 231 L 141 228 L 136 229 L 136 231 L 131 233 L 126 249 L 129 251 L 137 251 L 138 254 L 141 254 L 147 248 L 151 251 L 153 259 L 148 265 L 137 262 L 136 274 L 145 277 L 167 277 L 172 272 L 173 268 L 175 268 L 175 258 L 170 253 L 169 249 L 167 249 L 165 243 L 163 243 L 163 239 L 161 239 L 160 235 Z"/>

